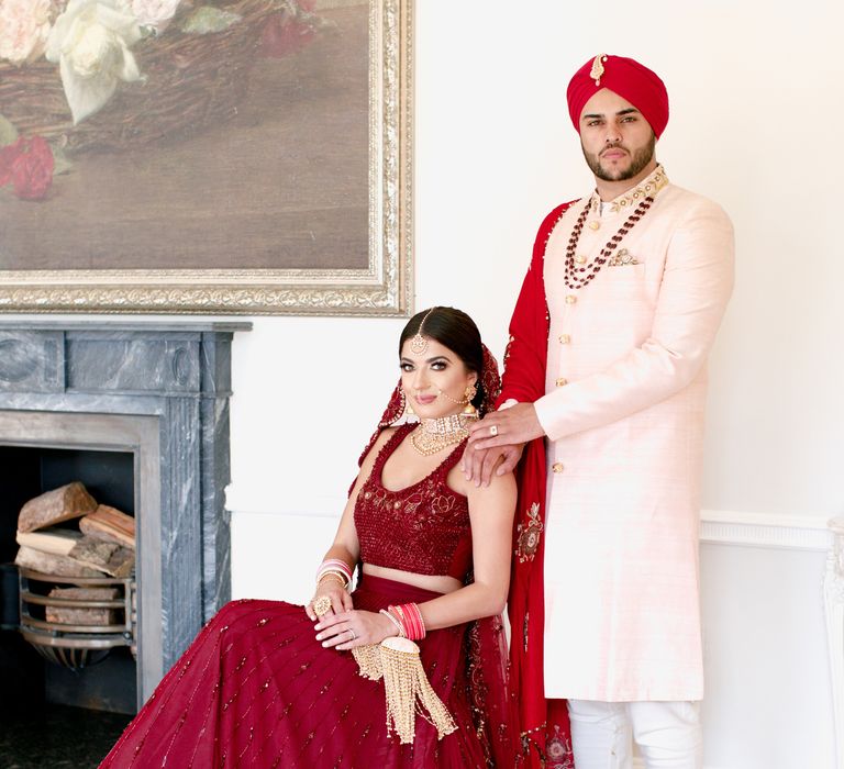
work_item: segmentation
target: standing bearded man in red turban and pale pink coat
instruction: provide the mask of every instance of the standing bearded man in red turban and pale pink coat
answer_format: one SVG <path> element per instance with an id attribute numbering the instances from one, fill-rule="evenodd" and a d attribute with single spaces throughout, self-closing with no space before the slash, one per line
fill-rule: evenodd
<path id="1" fill-rule="evenodd" d="M 648 767 L 700 767 L 706 360 L 733 231 L 657 164 L 653 71 L 599 55 L 567 96 L 596 188 L 540 227 L 501 408 L 464 469 L 487 482 L 522 459 L 509 612 L 529 765 L 570 766 L 567 700 L 577 769 L 630 767 L 634 742 Z"/>

